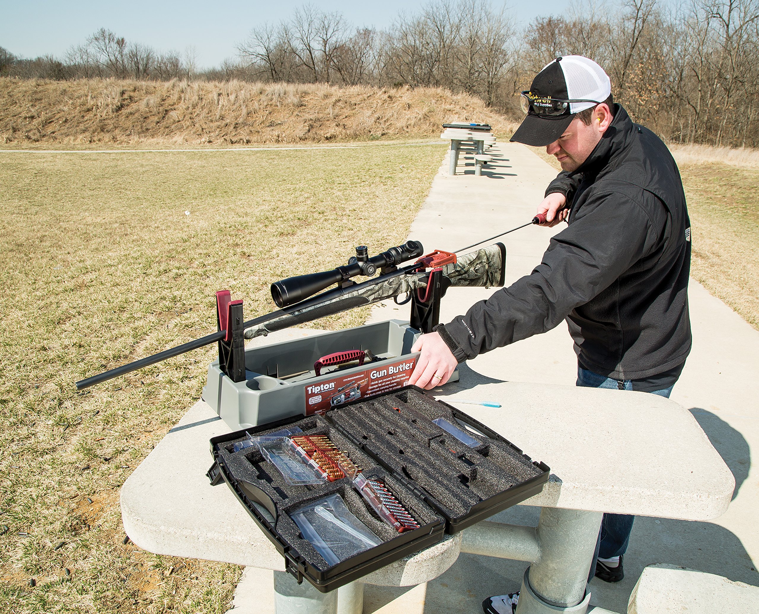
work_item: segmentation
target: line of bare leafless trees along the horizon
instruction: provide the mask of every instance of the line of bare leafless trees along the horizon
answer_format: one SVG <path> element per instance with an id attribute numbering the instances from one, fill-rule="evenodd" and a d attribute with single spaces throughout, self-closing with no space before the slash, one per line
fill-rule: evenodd
<path id="1" fill-rule="evenodd" d="M 61 59 L 0 51 L 0 73 L 444 87 L 517 119 L 518 94 L 534 74 L 556 56 L 580 54 L 606 69 L 633 118 L 666 139 L 759 146 L 759 0 L 670 9 L 656 0 L 587 3 L 526 27 L 505 6 L 433 0 L 384 31 L 304 5 L 288 20 L 254 27 L 238 52 L 197 71 L 192 54 L 161 54 L 100 30 Z"/>

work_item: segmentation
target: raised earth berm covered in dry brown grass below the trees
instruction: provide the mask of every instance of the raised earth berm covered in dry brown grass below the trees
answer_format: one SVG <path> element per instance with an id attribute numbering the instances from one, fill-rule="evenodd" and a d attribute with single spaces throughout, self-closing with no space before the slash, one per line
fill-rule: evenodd
<path id="1" fill-rule="evenodd" d="M 441 88 L 0 78 L 0 144 L 322 143 L 438 137 L 444 121 L 512 124 Z"/>

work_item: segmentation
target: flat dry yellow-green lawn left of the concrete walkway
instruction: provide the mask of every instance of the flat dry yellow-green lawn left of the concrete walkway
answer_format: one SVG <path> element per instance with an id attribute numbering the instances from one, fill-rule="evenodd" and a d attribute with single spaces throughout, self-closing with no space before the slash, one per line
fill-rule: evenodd
<path id="1" fill-rule="evenodd" d="M 122 543 L 118 505 L 215 348 L 74 381 L 213 332 L 216 290 L 253 317 L 272 281 L 401 243 L 444 148 L 3 154 L 0 611 L 231 606 L 239 568 Z"/>

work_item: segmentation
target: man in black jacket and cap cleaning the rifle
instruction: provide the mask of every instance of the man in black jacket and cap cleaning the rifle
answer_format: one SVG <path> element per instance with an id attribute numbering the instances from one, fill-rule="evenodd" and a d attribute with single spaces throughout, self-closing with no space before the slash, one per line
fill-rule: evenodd
<path id="1" fill-rule="evenodd" d="M 691 349 L 691 229 L 674 159 L 613 103 L 609 77 L 588 58 L 556 58 L 522 93 L 522 107 L 512 141 L 546 146 L 562 166 L 537 211 L 568 228 L 531 275 L 420 337 L 409 383 L 439 386 L 459 362 L 566 320 L 578 386 L 668 397 Z M 614 450 L 600 461 L 616 462 Z M 632 521 L 604 515 L 591 577 L 622 580 Z M 490 597 L 483 608 L 510 614 L 517 598 Z"/>

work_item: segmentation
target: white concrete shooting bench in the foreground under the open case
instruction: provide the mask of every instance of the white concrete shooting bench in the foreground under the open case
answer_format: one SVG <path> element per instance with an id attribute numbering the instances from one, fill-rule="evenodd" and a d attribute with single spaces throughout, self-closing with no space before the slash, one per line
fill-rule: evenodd
<path id="1" fill-rule="evenodd" d="M 314 333 L 290 329 L 261 342 Z M 228 487 L 210 486 L 209 439 L 229 428 L 201 400 L 122 486 L 124 529 L 153 553 L 274 570 L 277 614 L 360 614 L 364 584 L 422 584 L 461 552 L 531 563 L 518 614 L 582 614 L 590 601 L 586 581 L 603 512 L 709 521 L 727 509 L 732 474 L 694 417 L 674 401 L 534 383 L 466 386 L 445 386 L 436 397 L 452 405 L 457 396 L 502 404 L 458 407 L 550 466 L 543 492 L 524 502 L 541 507 L 537 527 L 483 521 L 332 593 L 322 594 L 307 581 L 298 585 Z M 600 463 L 609 453 L 616 462 Z"/>

